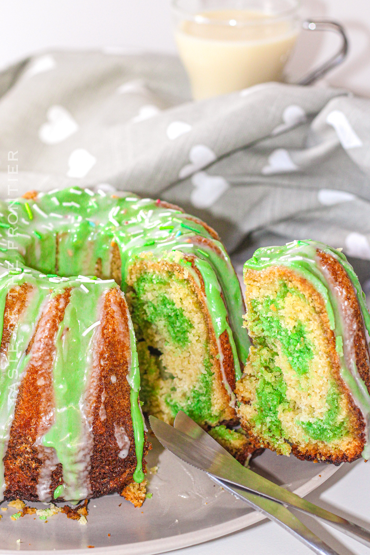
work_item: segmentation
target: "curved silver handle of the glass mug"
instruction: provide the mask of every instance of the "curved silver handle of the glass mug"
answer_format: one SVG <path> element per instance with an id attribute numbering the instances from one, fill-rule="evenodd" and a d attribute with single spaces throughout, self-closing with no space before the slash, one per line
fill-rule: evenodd
<path id="1" fill-rule="evenodd" d="M 312 83 L 315 83 L 317 79 L 321 79 L 321 77 L 323 77 L 328 71 L 343 62 L 348 52 L 348 39 L 341 24 L 334 21 L 327 21 L 325 19 L 307 19 L 306 21 L 303 21 L 302 28 L 307 29 L 307 31 L 332 31 L 334 33 L 338 33 L 342 37 L 341 47 L 336 54 L 296 83 L 297 85 L 311 85 Z"/>

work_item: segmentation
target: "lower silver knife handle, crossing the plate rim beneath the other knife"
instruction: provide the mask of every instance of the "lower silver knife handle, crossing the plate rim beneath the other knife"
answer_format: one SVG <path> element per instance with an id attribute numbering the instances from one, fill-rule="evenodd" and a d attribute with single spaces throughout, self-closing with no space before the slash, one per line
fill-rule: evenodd
<path id="1" fill-rule="evenodd" d="M 255 511 L 264 514 L 267 518 L 270 518 L 271 521 L 276 522 L 276 524 L 285 529 L 286 532 L 292 534 L 296 539 L 299 539 L 300 542 L 312 549 L 317 555 L 338 555 L 334 549 L 329 547 L 322 539 L 311 532 L 305 524 L 282 504 L 271 501 L 271 499 L 267 499 L 266 497 L 260 497 L 254 493 L 247 492 L 239 487 L 231 486 L 229 483 L 222 482 L 211 474 L 208 474 L 208 476 L 216 484 L 223 487 L 224 490 L 229 491 L 236 497 L 239 497 L 239 499 L 242 499 L 242 501 L 245 501 Z"/>

